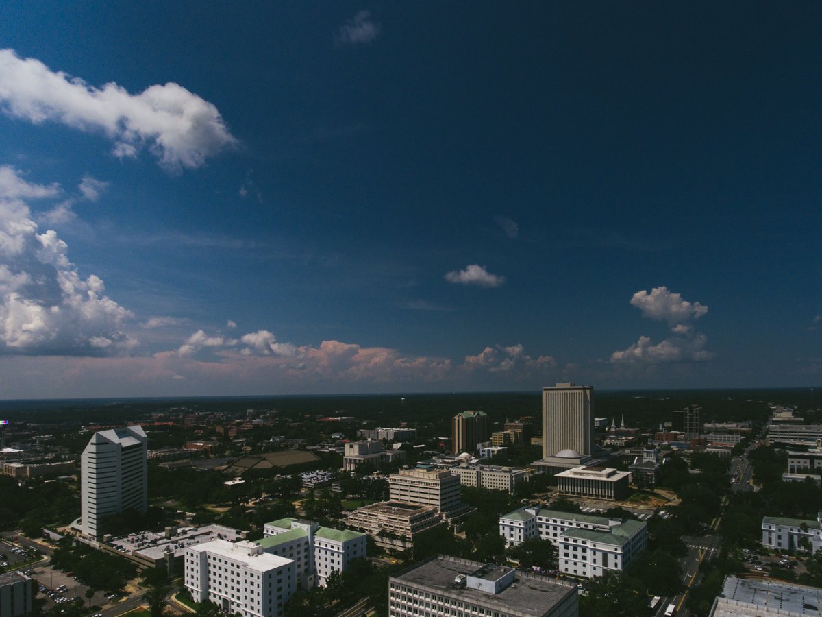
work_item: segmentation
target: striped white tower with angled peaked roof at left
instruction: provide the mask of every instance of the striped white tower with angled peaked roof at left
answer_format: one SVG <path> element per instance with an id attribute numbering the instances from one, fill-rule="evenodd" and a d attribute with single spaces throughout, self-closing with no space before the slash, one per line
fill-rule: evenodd
<path id="1" fill-rule="evenodd" d="M 80 457 L 80 529 L 103 536 L 104 517 L 149 507 L 148 438 L 140 426 L 101 430 Z"/>

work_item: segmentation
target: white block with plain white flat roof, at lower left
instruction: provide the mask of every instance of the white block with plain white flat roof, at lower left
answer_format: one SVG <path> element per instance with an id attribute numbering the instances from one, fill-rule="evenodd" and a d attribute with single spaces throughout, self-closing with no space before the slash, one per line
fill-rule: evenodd
<path id="1" fill-rule="evenodd" d="M 297 590 L 291 559 L 247 541 L 212 540 L 187 548 L 183 580 L 194 601 L 210 600 L 242 617 L 278 617 Z"/>

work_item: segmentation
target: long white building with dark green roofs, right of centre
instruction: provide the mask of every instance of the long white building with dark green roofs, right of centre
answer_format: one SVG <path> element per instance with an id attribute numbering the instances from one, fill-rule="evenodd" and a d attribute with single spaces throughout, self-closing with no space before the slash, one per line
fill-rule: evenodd
<path id="1" fill-rule="evenodd" d="M 648 544 L 644 522 L 544 508 L 520 508 L 501 516 L 500 535 L 508 545 L 548 540 L 556 546 L 560 570 L 585 578 L 623 571 Z"/>

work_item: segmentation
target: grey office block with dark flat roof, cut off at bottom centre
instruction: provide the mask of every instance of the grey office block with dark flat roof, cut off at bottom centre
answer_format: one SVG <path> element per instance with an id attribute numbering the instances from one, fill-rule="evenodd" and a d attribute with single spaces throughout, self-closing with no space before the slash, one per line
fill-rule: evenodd
<path id="1" fill-rule="evenodd" d="M 392 576 L 390 617 L 576 617 L 573 583 L 493 564 L 436 555 Z"/>

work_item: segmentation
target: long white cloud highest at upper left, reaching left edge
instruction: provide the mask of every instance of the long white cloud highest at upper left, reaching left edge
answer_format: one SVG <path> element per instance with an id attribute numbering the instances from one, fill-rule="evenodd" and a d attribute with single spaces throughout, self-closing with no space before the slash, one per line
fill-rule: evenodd
<path id="1" fill-rule="evenodd" d="M 35 124 L 104 132 L 121 158 L 147 147 L 175 173 L 237 144 L 215 105 L 176 83 L 136 95 L 113 82 L 98 88 L 36 58 L 20 58 L 13 49 L 0 49 L 0 109 Z"/>

